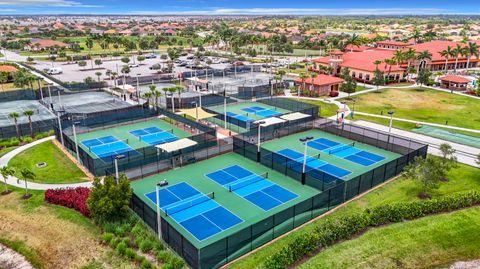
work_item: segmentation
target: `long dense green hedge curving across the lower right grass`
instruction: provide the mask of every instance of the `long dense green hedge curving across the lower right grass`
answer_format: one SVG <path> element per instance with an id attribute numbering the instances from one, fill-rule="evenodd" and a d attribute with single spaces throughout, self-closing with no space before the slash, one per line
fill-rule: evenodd
<path id="1" fill-rule="evenodd" d="M 442 198 L 394 203 L 363 212 L 322 221 L 311 233 L 298 235 L 288 245 L 269 256 L 263 266 L 268 269 L 286 268 L 314 250 L 335 244 L 365 231 L 369 227 L 421 218 L 480 205 L 480 193 L 470 191 Z"/>

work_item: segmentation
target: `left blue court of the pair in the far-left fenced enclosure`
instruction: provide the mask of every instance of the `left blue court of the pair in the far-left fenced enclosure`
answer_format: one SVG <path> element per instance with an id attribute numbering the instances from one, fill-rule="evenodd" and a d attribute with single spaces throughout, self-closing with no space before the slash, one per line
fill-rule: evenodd
<path id="1" fill-rule="evenodd" d="M 112 157 L 121 154 L 128 154 L 129 156 L 139 154 L 125 143 L 125 141 L 118 140 L 111 135 L 83 140 L 81 143 L 104 161 L 112 161 Z"/>

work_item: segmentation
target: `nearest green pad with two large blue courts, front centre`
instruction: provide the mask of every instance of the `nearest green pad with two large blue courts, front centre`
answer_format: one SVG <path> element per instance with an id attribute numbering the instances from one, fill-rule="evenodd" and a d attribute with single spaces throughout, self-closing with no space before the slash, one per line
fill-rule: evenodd
<path id="1" fill-rule="evenodd" d="M 209 177 L 225 170 L 236 177 L 217 175 L 215 180 Z M 161 180 L 169 183 L 160 192 L 162 218 L 196 248 L 242 231 L 320 192 L 236 153 L 132 181 L 134 193 L 153 210 L 156 210 L 155 186 Z M 223 209 L 215 209 L 217 206 Z M 190 221 L 185 222 L 187 219 Z M 299 217 L 297 221 L 302 220 Z"/>

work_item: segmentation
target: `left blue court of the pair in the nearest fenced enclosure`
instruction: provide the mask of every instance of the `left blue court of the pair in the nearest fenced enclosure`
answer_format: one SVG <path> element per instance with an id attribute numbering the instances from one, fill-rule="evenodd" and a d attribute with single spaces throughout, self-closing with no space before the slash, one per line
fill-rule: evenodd
<path id="1" fill-rule="evenodd" d="M 199 241 L 227 230 L 243 220 L 186 182 L 160 190 L 160 208 Z M 145 194 L 157 204 L 155 191 Z"/>

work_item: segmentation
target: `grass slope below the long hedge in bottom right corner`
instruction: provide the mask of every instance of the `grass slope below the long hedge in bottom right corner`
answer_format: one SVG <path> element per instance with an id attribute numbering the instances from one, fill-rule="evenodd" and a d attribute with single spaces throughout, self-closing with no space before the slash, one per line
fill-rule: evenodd
<path id="1" fill-rule="evenodd" d="M 480 257 L 480 208 L 370 229 L 299 268 L 437 268 Z"/>

